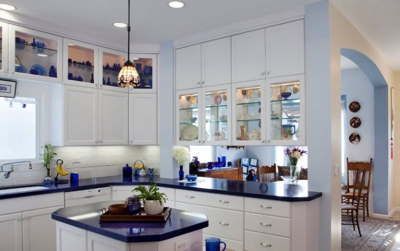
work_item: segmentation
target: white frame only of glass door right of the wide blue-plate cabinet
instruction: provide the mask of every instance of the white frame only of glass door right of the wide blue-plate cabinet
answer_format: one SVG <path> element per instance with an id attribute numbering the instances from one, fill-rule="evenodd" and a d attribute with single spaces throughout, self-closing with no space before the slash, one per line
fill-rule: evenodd
<path id="1" fill-rule="evenodd" d="M 82 87 L 91 87 L 91 88 L 98 88 L 99 85 L 99 79 L 98 79 L 98 69 L 99 69 L 99 63 L 98 63 L 98 47 L 97 45 L 91 44 L 91 43 L 86 43 L 78 40 L 73 40 L 70 38 L 64 37 L 63 40 L 63 83 L 68 84 L 68 85 L 75 85 L 75 86 L 82 86 Z M 80 46 L 80 47 L 85 47 L 88 49 L 93 50 L 93 57 L 94 57 L 94 67 L 93 67 L 93 83 L 90 82 L 80 82 L 80 81 L 75 81 L 75 80 L 70 80 L 68 79 L 68 43 L 72 43 L 74 45 Z M 72 58 L 73 60 L 73 58 Z M 102 66 L 101 66 L 102 68 Z"/>

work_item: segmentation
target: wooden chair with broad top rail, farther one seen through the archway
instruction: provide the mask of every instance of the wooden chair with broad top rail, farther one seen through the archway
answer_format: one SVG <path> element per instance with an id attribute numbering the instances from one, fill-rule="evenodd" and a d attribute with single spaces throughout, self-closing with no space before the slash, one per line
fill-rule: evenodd
<path id="1" fill-rule="evenodd" d="M 356 175 L 354 175 L 354 172 L 357 170 L 357 168 L 360 171 L 365 171 L 365 180 L 361 187 L 360 201 L 360 209 L 362 209 L 362 221 L 365 221 L 365 208 L 366 216 L 369 217 L 369 186 L 372 172 L 372 158 L 369 159 L 369 162 L 348 162 L 347 158 L 347 187 L 346 191 L 342 194 L 342 202 L 350 202 L 354 184 L 356 184 L 357 180 L 359 180 L 356 178 Z M 366 176 L 368 176 L 367 179 Z"/>

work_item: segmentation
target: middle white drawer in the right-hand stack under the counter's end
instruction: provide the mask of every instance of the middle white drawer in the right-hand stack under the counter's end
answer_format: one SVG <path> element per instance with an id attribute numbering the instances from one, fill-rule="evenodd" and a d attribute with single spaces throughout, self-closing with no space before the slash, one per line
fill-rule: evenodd
<path id="1" fill-rule="evenodd" d="M 290 237 L 290 219 L 245 212 L 244 229 Z"/>

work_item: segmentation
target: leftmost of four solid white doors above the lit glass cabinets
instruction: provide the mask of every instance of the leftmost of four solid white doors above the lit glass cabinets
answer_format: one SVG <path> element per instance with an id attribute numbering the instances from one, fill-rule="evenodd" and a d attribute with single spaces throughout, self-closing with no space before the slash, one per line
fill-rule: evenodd
<path id="1" fill-rule="evenodd" d="M 201 45 L 194 44 L 175 50 L 175 90 L 200 86 Z"/>

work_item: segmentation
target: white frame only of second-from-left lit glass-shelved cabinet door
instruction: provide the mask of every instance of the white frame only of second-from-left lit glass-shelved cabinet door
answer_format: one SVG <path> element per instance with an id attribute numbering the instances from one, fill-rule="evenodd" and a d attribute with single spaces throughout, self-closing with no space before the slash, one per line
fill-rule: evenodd
<path id="1" fill-rule="evenodd" d="M 227 123 L 227 133 L 226 133 L 226 139 L 227 140 L 207 140 L 206 139 L 206 118 L 205 118 L 205 111 L 206 111 L 206 106 L 205 106 L 205 95 L 208 92 L 218 92 L 218 91 L 226 91 L 227 98 L 226 98 L 226 104 L 227 104 L 227 110 L 226 110 L 226 123 Z M 223 84 L 223 85 L 218 85 L 218 86 L 209 86 L 209 87 L 202 87 L 201 88 L 201 123 L 202 123 L 202 137 L 201 137 L 201 143 L 203 145 L 231 145 L 232 139 L 232 111 L 231 111 L 231 105 L 232 105 L 232 97 L 231 97 L 231 86 L 230 84 Z M 219 118 L 217 118 L 219 120 Z"/>

